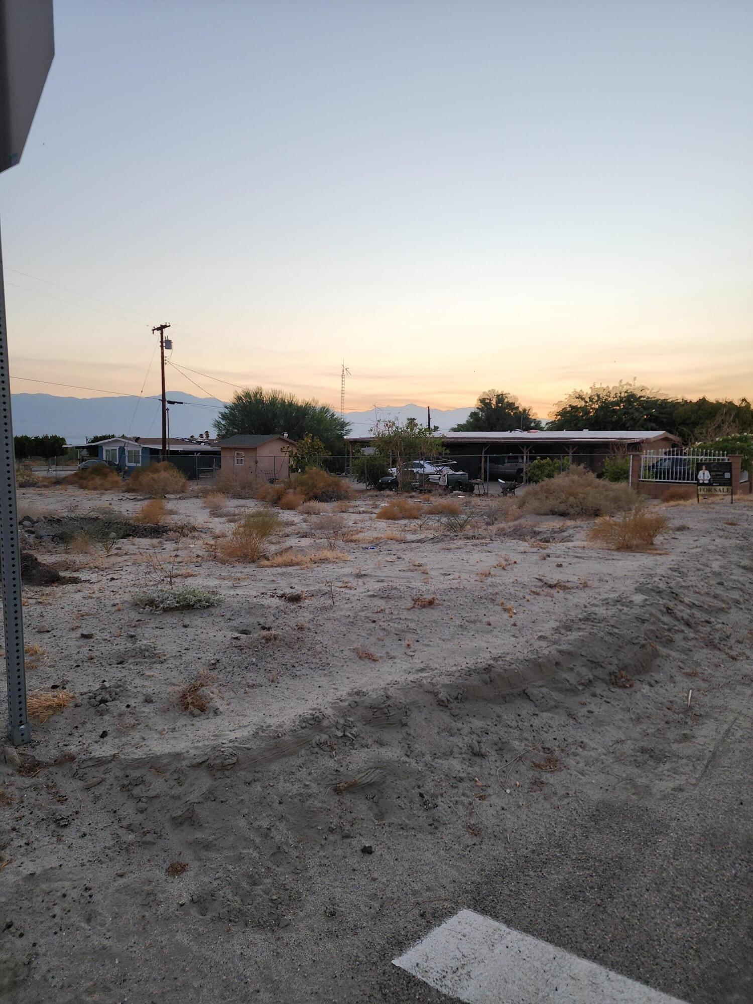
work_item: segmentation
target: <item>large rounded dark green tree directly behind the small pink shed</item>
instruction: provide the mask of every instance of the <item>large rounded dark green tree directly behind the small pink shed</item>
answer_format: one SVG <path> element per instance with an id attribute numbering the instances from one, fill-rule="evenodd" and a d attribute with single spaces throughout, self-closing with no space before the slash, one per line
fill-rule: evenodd
<path id="1" fill-rule="evenodd" d="M 236 392 L 220 412 L 215 428 L 223 438 L 287 433 L 297 442 L 305 436 L 315 436 L 330 453 L 342 451 L 342 440 L 350 430 L 348 423 L 328 405 L 300 401 L 295 395 L 265 391 L 261 387 Z"/>

